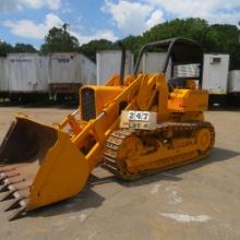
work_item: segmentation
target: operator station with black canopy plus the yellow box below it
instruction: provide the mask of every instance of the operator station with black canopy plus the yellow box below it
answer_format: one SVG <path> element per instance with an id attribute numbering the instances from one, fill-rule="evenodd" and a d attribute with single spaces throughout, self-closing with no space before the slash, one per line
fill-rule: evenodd
<path id="1" fill-rule="evenodd" d="M 208 93 L 202 89 L 203 48 L 194 40 L 171 38 L 146 44 L 140 50 L 134 68 L 137 74 L 146 50 L 166 52 L 163 73 L 168 85 L 168 109 L 171 112 L 201 112 L 207 109 Z M 160 93 L 159 93 L 160 94 Z"/>

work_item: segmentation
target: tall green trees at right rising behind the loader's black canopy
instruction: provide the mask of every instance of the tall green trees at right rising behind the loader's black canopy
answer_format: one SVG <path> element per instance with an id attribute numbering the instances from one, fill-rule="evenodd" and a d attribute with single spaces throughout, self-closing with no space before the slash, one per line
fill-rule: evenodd
<path id="1" fill-rule="evenodd" d="M 209 25 L 202 19 L 176 19 L 157 24 L 145 32 L 142 35 L 141 44 L 172 37 L 194 39 L 202 44 L 205 52 L 229 53 L 230 69 L 240 69 L 240 31 L 235 25 Z M 132 46 L 139 51 L 136 43 L 132 43 Z"/>

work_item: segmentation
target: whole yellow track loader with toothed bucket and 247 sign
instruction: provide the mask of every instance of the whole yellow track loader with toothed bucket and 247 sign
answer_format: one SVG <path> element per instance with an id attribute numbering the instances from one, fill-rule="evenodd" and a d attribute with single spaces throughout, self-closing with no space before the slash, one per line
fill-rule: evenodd
<path id="1" fill-rule="evenodd" d="M 50 127 L 16 116 L 0 147 L 10 220 L 77 194 L 98 165 L 132 180 L 209 154 L 215 131 L 203 116 L 202 47 L 184 38 L 147 44 L 127 76 L 121 47 L 120 74 L 104 86 L 82 87 L 79 109 L 62 122 Z M 143 53 L 158 48 L 167 52 L 164 68 L 140 73 Z M 187 74 L 188 67 L 195 70 Z"/>

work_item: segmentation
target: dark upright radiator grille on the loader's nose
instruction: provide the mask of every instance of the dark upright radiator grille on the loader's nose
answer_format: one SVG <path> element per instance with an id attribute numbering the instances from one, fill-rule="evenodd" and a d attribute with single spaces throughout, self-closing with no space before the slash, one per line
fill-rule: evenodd
<path id="1" fill-rule="evenodd" d="M 95 92 L 92 88 L 82 89 L 82 118 L 84 121 L 96 118 Z"/>

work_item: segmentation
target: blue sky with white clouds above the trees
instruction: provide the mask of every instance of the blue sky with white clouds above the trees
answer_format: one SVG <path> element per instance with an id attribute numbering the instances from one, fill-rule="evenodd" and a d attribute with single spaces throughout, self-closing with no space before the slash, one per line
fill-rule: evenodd
<path id="1" fill-rule="evenodd" d="M 53 27 L 70 24 L 80 44 L 140 35 L 176 17 L 240 22 L 240 0 L 0 0 L 0 39 L 39 48 Z"/>

